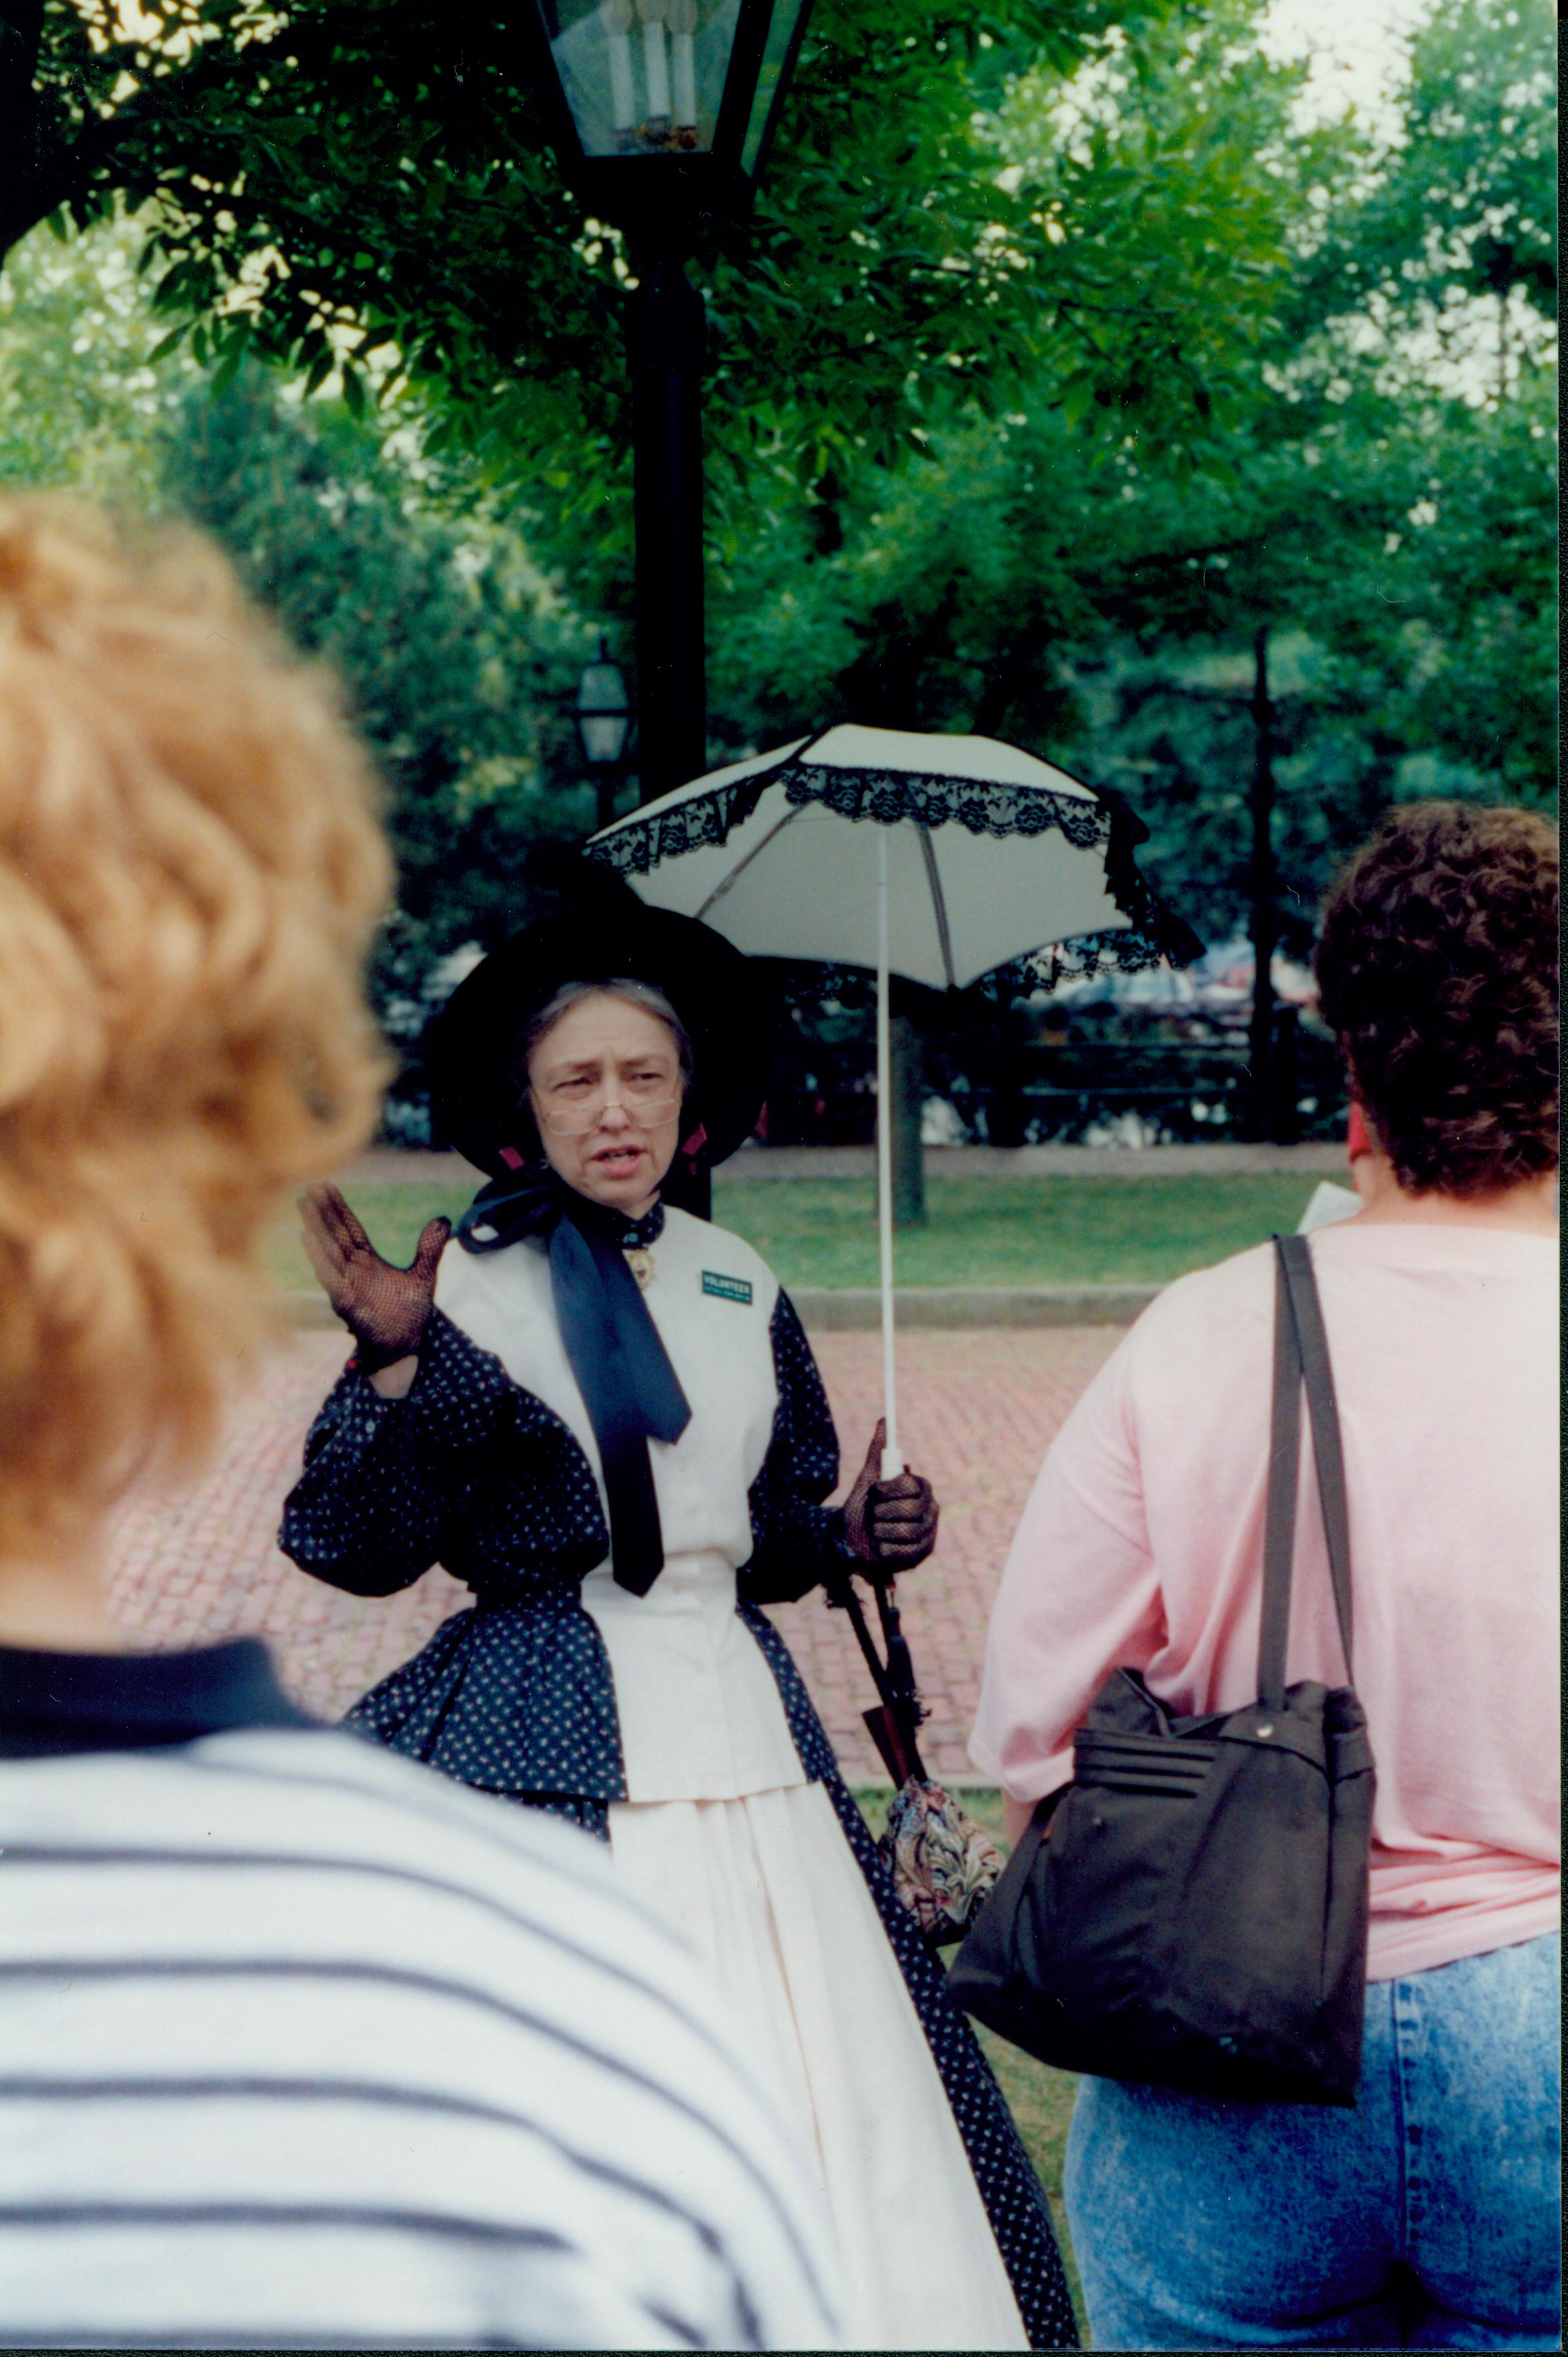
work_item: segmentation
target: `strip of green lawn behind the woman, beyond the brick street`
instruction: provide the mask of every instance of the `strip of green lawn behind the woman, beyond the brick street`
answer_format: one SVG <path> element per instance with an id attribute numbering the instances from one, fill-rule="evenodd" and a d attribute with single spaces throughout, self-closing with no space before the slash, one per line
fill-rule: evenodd
<path id="1" fill-rule="evenodd" d="M 898 1235 L 901 1285 L 1162 1285 L 1294 1228 L 1313 1181 L 1292 1174 L 1179 1178 L 931 1178 L 924 1228 Z M 370 1240 L 408 1261 L 460 1188 L 377 1181 L 351 1188 Z M 724 1178 L 714 1219 L 783 1285 L 875 1285 L 875 1197 L 858 1178 Z M 269 1237 L 283 1285 L 311 1285 L 290 1214 Z"/>

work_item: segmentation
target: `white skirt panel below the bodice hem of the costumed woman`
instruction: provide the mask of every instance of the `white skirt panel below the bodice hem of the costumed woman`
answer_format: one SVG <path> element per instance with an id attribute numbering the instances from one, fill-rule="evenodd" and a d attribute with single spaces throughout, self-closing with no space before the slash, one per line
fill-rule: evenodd
<path id="1" fill-rule="evenodd" d="M 898 1959 L 821 1784 L 618 1801 L 625 1881 L 714 1966 L 792 2105 L 854 2350 L 1028 2338 Z"/>

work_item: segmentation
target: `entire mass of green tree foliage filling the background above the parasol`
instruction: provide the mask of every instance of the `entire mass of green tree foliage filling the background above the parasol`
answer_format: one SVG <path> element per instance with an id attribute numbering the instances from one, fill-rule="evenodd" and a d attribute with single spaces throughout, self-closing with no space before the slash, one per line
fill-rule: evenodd
<path id="1" fill-rule="evenodd" d="M 757 222 L 700 255 L 712 750 L 839 714 L 1019 738 L 1122 785 L 1172 898 L 1224 933 L 1266 627 L 1299 943 L 1389 797 L 1551 787 L 1551 21 L 1434 9 L 1379 144 L 1302 132 L 1257 14 L 1004 0 L 910 26 L 818 0 Z M 481 12 L 163 21 L 125 45 L 87 0 L 40 14 L 31 203 L 153 203 L 94 231 L 108 292 L 73 290 L 85 247 L 17 252 L 0 467 L 141 453 L 137 483 L 344 667 L 394 780 L 413 976 L 516 907 L 526 834 L 587 825 L 564 783 L 585 632 L 519 528 L 580 613 L 625 615 L 630 257 L 573 214 Z M 137 257 L 165 325 L 198 321 L 163 358 Z M 391 375 L 356 424 L 321 389 L 377 337 Z M 233 398 L 149 457 L 191 344 Z M 314 387 L 304 410 L 262 398 L 250 349 Z"/>

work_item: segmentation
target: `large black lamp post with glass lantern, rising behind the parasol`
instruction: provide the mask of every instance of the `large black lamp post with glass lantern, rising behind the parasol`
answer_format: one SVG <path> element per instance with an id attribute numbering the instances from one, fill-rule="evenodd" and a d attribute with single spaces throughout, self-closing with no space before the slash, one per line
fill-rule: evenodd
<path id="1" fill-rule="evenodd" d="M 625 231 L 641 797 L 707 766 L 703 219 L 745 219 L 811 0 L 528 0 L 566 181 Z"/>

